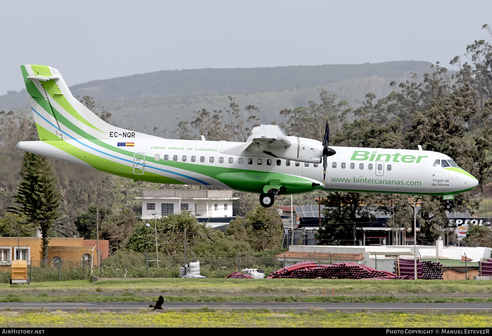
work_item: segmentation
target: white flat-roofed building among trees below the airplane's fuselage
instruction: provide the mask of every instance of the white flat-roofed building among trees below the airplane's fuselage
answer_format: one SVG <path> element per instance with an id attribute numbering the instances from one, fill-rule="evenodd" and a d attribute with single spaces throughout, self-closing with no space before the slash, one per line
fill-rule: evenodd
<path id="1" fill-rule="evenodd" d="M 232 190 L 143 190 L 142 219 L 160 218 L 181 210 L 197 217 L 232 217 Z"/>

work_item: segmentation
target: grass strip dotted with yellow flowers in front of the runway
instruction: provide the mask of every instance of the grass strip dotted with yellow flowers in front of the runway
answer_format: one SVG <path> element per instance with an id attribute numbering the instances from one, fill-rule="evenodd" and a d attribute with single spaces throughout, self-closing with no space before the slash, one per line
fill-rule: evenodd
<path id="1" fill-rule="evenodd" d="M 474 327 L 492 325 L 488 313 L 342 313 L 311 310 L 272 313 L 268 309 L 95 313 L 0 312 L 0 327 Z"/>

